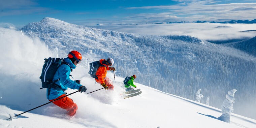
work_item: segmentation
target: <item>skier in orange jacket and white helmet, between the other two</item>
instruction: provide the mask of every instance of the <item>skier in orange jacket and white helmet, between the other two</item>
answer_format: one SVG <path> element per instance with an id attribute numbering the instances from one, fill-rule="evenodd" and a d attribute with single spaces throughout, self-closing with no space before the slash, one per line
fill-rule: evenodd
<path id="1" fill-rule="evenodd" d="M 99 62 L 104 66 L 99 66 L 98 70 L 96 71 L 97 78 L 95 78 L 95 81 L 105 89 L 114 89 L 113 82 L 106 77 L 107 70 L 116 70 L 114 67 L 108 67 L 114 64 L 114 60 L 112 58 L 108 58 L 107 60 L 101 59 Z"/>

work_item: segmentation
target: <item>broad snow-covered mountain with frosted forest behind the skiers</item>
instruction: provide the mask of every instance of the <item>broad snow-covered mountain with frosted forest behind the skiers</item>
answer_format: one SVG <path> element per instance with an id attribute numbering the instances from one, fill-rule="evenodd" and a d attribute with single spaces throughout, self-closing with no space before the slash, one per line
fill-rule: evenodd
<path id="1" fill-rule="evenodd" d="M 192 100 L 201 89 L 213 99 L 210 105 L 218 108 L 226 92 L 236 88 L 234 113 L 256 119 L 256 112 L 248 111 L 256 105 L 256 58 L 239 50 L 190 36 L 136 35 L 53 18 L 29 23 L 22 31 L 39 37 L 59 57 L 71 50 L 81 52 L 87 68 L 92 61 L 112 57 L 118 76 L 136 74 L 138 83 Z"/>

